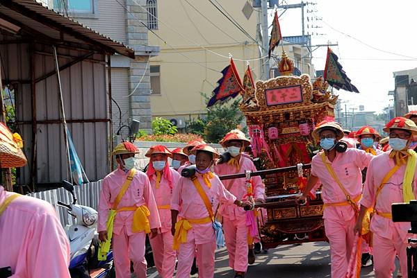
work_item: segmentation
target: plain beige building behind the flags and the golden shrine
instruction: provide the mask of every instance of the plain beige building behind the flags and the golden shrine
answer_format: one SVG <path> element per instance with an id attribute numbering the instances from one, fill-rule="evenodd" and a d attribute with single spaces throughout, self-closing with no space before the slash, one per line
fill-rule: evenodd
<path id="1" fill-rule="evenodd" d="M 211 2 L 156 1 L 160 21 L 155 23 L 156 35 L 149 33 L 149 44 L 160 46 L 161 53 L 150 64 L 152 115 L 175 119 L 178 128 L 206 114 L 205 96 L 212 96 L 222 77 L 220 71 L 229 64 L 229 53 L 240 78 L 247 60 L 251 60 L 255 82 L 261 75 L 259 9 L 252 8 L 252 1 L 247 0 Z M 284 42 L 284 49 L 298 69 L 302 70 L 302 60 L 309 63 L 300 45 Z M 281 57 L 281 46 L 275 54 Z M 277 60 L 271 58 L 270 63 L 272 73 Z M 310 72 L 310 67 L 304 72 Z"/>

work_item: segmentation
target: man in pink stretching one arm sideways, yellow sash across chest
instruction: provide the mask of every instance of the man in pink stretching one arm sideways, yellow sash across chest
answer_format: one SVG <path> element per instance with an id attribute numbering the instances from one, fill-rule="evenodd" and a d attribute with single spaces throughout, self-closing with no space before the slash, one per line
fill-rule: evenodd
<path id="1" fill-rule="evenodd" d="M 247 202 L 236 200 L 236 197 L 227 191 L 217 175 L 210 171 L 213 159 L 218 157 L 216 150 L 207 145 L 199 145 L 193 148 L 196 155 L 197 171 L 195 177 L 204 190 L 204 194 L 211 204 L 211 214 L 215 213 L 215 208 L 219 202 L 235 204 L 245 207 L 251 205 Z M 190 277 L 190 269 L 195 257 L 197 247 L 197 265 L 199 278 L 214 277 L 214 251 L 215 251 L 215 232 L 213 229 L 213 218 L 208 213 L 208 209 L 199 195 L 199 191 L 193 181 L 188 177 L 180 177 L 171 202 L 172 210 L 172 234 L 174 243 L 177 236 L 181 235 L 181 230 L 175 230 L 177 217 L 179 221 L 190 223 L 190 229 L 186 232 L 185 242 L 179 244 L 177 278 Z M 188 227 L 186 225 L 186 227 Z"/>

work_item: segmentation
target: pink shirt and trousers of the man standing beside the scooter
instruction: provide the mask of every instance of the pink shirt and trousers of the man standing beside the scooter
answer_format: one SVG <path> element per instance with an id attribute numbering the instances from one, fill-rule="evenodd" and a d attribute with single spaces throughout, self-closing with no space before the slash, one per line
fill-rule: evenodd
<path id="1" fill-rule="evenodd" d="M 108 211 L 113 207 L 113 202 L 117 193 L 122 189 L 126 177 L 127 173 L 120 168 L 104 177 L 99 200 L 99 223 L 97 227 L 99 232 L 106 230 Z M 146 205 L 151 213 L 148 218 L 151 229 L 161 227 L 149 179 L 145 173 L 137 171 L 118 208 L 140 207 L 141 205 Z M 130 278 L 130 261 L 133 261 L 136 276 L 138 278 L 146 277 L 146 234 L 145 232 L 132 232 L 133 214 L 134 211 L 120 211 L 115 216 L 113 255 L 117 278 Z"/>

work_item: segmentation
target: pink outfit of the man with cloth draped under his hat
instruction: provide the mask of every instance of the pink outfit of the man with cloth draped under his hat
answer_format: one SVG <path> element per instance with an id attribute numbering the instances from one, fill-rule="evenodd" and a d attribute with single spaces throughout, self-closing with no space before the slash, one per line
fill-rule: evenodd
<path id="1" fill-rule="evenodd" d="M 151 245 L 155 266 L 162 278 L 172 278 L 172 275 L 174 275 L 176 252 L 172 249 L 174 237 L 171 234 L 171 210 L 170 208 L 161 208 L 161 206 L 171 205 L 174 186 L 177 185 L 179 177 L 181 177 L 174 168 L 167 169 L 171 171 L 172 189 L 163 175 L 161 175 L 158 188 L 156 188 L 156 175 L 152 175 L 150 180 L 158 206 L 159 218 L 161 219 L 161 231 L 158 236 L 151 239 Z"/>

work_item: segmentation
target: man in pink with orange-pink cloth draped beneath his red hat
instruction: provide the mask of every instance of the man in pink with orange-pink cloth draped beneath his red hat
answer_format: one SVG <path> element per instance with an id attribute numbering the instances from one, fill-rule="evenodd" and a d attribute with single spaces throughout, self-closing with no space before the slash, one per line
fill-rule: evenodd
<path id="1" fill-rule="evenodd" d="M 159 276 L 172 278 L 177 255 L 172 249 L 174 237 L 171 234 L 170 209 L 172 191 L 181 176 L 174 168 L 170 168 L 168 157 L 172 157 L 172 154 L 165 146 L 153 146 L 149 148 L 145 156 L 150 158 L 147 176 L 151 182 L 161 220 L 161 229 L 158 235 L 151 239 L 155 266 Z"/>

